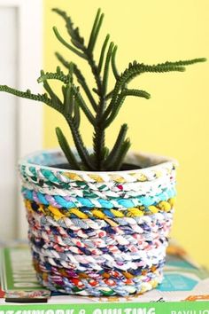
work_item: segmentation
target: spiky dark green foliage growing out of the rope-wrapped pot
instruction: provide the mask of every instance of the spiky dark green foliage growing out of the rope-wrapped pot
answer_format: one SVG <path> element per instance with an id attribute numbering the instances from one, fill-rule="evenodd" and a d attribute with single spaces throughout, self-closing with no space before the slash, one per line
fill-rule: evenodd
<path id="1" fill-rule="evenodd" d="M 177 62 L 167 61 L 153 66 L 134 61 L 133 63 L 129 63 L 125 71 L 120 73 L 116 66 L 117 46 L 112 42 L 109 43 L 110 35 L 106 35 L 104 38 L 98 60 L 96 61 L 94 57 L 97 38 L 104 20 L 104 14 L 100 9 L 97 11 L 88 43 L 85 43 L 84 38 L 80 35 L 79 28 L 74 27 L 73 21 L 66 15 L 66 12 L 59 9 L 53 9 L 53 11 L 57 12 L 65 20 L 66 30 L 70 38 L 70 40 L 64 39 L 58 32 L 58 29 L 53 27 L 58 41 L 65 45 L 69 51 L 72 51 L 89 63 L 90 70 L 95 78 L 96 87 L 89 88 L 79 67 L 74 62 L 68 62 L 56 52 L 58 60 L 66 67 L 67 73 L 65 74 L 59 67 L 55 73 L 44 73 L 41 71 L 38 82 L 43 83 L 43 87 L 46 90 L 45 94 L 35 95 L 30 90 L 23 92 L 5 85 L 0 85 L 0 90 L 22 98 L 41 101 L 65 117 L 74 138 L 76 151 L 81 159 L 81 161 L 76 159 L 74 150 L 71 149 L 62 130 L 56 128 L 58 143 L 65 153 L 71 168 L 118 170 L 130 147 L 130 140 L 127 137 L 128 125 L 123 124 L 121 126 L 118 137 L 111 150 L 105 145 L 105 130 L 112 124 L 117 114 L 119 114 L 120 108 L 127 97 L 132 96 L 146 99 L 151 97 L 145 90 L 128 89 L 129 82 L 143 73 L 182 72 L 185 70 L 185 66 L 204 62 L 205 59 L 191 59 Z M 111 69 L 115 79 L 112 89 L 108 86 L 108 77 Z M 74 79 L 76 79 L 76 83 Z M 61 82 L 62 99 L 58 98 L 58 95 L 51 89 L 50 80 Z M 85 99 L 88 99 L 89 104 L 87 104 Z M 94 129 L 92 153 L 89 153 L 81 137 L 80 111 L 86 115 Z"/>

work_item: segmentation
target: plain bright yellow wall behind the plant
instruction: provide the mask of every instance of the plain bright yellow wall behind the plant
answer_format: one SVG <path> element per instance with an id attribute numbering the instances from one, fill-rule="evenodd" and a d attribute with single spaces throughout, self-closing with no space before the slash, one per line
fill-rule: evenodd
<path id="1" fill-rule="evenodd" d="M 44 68 L 53 70 L 54 51 L 67 59 L 66 51 L 52 34 L 58 26 L 66 35 L 64 23 L 52 7 L 67 10 L 83 35 L 89 34 L 97 7 L 105 13 L 102 35 L 109 32 L 118 44 L 118 66 L 128 61 L 159 63 L 169 60 L 207 57 L 209 59 L 208 0 L 44 0 Z M 81 66 L 84 64 L 81 61 Z M 88 67 L 87 77 L 91 80 Z M 128 122 L 132 148 L 170 155 L 180 162 L 178 202 L 173 236 L 186 247 L 197 262 L 209 267 L 209 62 L 188 67 L 186 73 L 143 75 L 133 86 L 151 92 L 151 100 L 129 98 L 107 140 L 112 144 L 122 122 Z M 57 146 L 54 128 L 61 117 L 44 109 L 44 146 Z M 87 122 L 83 129 L 87 145 L 91 133 Z M 67 133 L 69 134 L 69 133 Z"/>

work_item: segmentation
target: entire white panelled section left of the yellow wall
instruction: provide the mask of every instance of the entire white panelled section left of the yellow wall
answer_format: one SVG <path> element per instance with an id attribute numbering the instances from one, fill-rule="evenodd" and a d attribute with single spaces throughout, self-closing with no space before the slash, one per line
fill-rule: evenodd
<path id="1" fill-rule="evenodd" d="M 42 0 L 0 0 L 0 84 L 40 92 Z M 0 240 L 23 238 L 19 157 L 42 148 L 42 105 L 0 93 Z"/>

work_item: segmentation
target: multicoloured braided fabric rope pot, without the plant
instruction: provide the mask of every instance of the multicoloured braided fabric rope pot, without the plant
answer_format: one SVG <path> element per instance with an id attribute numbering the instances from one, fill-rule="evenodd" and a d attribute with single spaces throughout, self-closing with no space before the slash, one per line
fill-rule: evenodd
<path id="1" fill-rule="evenodd" d="M 130 153 L 143 169 L 56 169 L 59 151 L 19 162 L 33 263 L 44 287 L 66 294 L 128 295 L 161 282 L 176 162 Z"/>

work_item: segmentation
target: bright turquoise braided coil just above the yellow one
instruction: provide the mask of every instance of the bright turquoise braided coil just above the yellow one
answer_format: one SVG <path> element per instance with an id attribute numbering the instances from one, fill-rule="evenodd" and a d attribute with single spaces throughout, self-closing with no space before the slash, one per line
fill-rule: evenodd
<path id="1" fill-rule="evenodd" d="M 135 206 L 151 206 L 159 201 L 168 200 L 173 198 L 176 194 L 175 189 L 166 189 L 164 192 L 161 192 L 159 195 L 149 197 L 149 196 L 139 196 L 130 199 L 115 199 L 115 200 L 103 200 L 96 199 L 90 200 L 88 198 L 64 198 L 61 196 L 51 196 L 46 195 L 41 192 L 35 192 L 22 188 L 22 193 L 25 199 L 27 200 L 39 200 L 43 205 L 52 205 L 58 208 L 78 208 L 78 207 L 88 207 L 88 208 L 133 208 Z M 72 199 L 72 200 L 71 200 Z"/>

